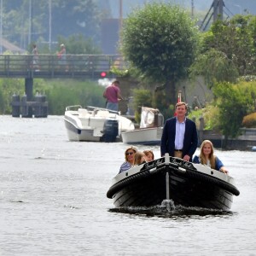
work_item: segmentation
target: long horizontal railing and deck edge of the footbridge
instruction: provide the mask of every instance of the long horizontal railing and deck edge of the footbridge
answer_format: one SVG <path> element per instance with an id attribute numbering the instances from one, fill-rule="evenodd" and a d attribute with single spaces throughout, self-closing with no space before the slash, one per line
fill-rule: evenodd
<path id="1" fill-rule="evenodd" d="M 97 78 L 113 68 L 123 69 L 121 55 L 0 55 L 0 77 L 20 78 Z"/>

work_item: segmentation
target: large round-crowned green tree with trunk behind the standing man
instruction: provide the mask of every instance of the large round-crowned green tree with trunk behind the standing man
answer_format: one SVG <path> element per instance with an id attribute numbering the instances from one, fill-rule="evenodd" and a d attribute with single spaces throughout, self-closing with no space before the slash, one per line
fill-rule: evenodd
<path id="1" fill-rule="evenodd" d="M 124 22 L 121 51 L 144 78 L 164 84 L 166 108 L 177 102 L 175 84 L 188 76 L 198 30 L 189 14 L 170 3 L 146 3 Z"/>

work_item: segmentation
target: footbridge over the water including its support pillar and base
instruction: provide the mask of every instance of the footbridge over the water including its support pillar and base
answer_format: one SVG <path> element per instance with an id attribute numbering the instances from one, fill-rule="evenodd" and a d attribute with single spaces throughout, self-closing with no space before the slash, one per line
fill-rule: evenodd
<path id="1" fill-rule="evenodd" d="M 33 79 L 100 79 L 113 78 L 112 69 L 124 68 L 121 55 L 0 55 L 0 78 L 24 78 L 25 95 L 14 95 L 12 115 L 46 117 L 45 96 L 33 97 Z"/>

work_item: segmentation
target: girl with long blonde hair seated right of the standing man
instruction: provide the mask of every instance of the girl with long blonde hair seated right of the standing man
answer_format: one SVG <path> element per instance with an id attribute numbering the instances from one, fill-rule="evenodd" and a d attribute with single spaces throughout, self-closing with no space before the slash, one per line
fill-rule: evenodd
<path id="1" fill-rule="evenodd" d="M 193 163 L 210 166 L 212 169 L 224 172 L 225 174 L 229 173 L 222 161 L 219 160 L 216 155 L 214 155 L 213 145 L 209 140 L 205 140 L 201 143 L 200 154 L 199 156 L 194 156 Z"/>

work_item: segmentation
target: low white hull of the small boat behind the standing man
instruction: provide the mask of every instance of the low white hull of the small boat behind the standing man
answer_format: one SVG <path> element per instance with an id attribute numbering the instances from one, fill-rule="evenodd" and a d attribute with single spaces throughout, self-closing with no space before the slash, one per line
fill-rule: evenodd
<path id="1" fill-rule="evenodd" d="M 159 145 L 163 127 L 141 128 L 134 131 L 125 131 L 121 133 L 123 143 Z"/>

